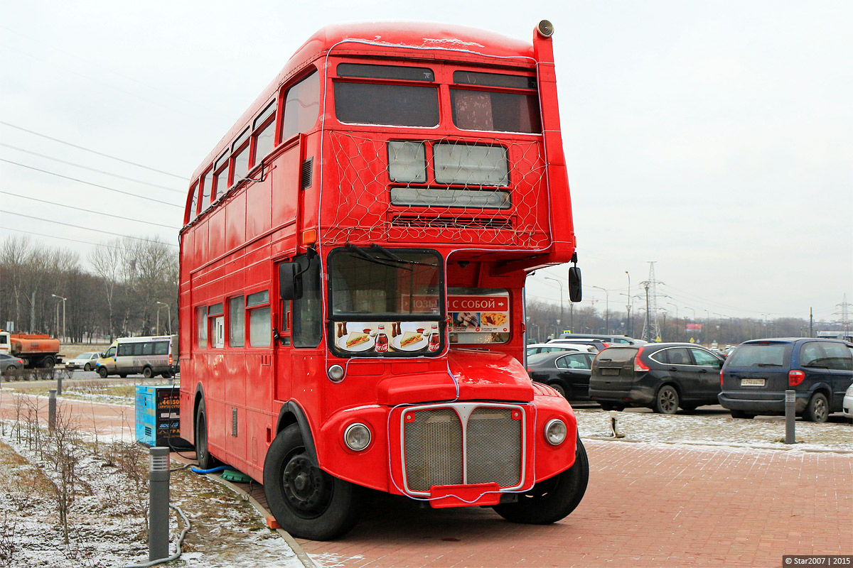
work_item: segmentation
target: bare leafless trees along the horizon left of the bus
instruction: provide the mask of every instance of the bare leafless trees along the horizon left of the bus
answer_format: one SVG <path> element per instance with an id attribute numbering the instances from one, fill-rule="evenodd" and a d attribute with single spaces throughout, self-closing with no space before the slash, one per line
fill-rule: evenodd
<path id="1" fill-rule="evenodd" d="M 71 343 L 177 333 L 177 279 L 177 250 L 158 237 L 102 242 L 84 262 L 10 236 L 0 244 L 0 329 L 11 322 Z"/>

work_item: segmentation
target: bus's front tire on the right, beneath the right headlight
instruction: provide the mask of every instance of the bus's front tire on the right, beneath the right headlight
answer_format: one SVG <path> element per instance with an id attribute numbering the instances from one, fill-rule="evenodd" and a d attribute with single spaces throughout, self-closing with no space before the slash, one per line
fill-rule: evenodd
<path id="1" fill-rule="evenodd" d="M 577 439 L 575 463 L 563 473 L 543 479 L 519 501 L 492 507 L 504 519 L 525 525 L 550 525 L 566 518 L 583 499 L 589 482 L 589 459 Z"/>

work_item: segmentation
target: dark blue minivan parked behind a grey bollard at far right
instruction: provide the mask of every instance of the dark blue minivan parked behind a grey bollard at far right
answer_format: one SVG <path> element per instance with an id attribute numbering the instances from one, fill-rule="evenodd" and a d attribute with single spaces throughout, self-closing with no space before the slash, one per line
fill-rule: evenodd
<path id="1" fill-rule="evenodd" d="M 784 414 L 785 391 L 809 422 L 827 422 L 842 409 L 853 383 L 853 343 L 791 337 L 741 343 L 720 372 L 719 401 L 735 418 Z"/>

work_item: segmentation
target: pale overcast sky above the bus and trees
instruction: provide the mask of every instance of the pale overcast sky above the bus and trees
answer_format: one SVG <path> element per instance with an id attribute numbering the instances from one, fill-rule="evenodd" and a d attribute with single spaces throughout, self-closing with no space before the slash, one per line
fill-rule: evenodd
<path id="1" fill-rule="evenodd" d="M 624 310 L 629 278 L 640 294 L 654 261 L 672 315 L 839 319 L 844 294 L 853 302 L 853 3 L 841 0 L 0 0 L 0 238 L 38 233 L 84 262 L 107 233 L 177 244 L 187 178 L 322 26 L 436 21 L 531 41 L 543 18 L 582 306 Z M 545 276 L 566 267 L 531 277 L 529 297 L 559 298 Z"/>

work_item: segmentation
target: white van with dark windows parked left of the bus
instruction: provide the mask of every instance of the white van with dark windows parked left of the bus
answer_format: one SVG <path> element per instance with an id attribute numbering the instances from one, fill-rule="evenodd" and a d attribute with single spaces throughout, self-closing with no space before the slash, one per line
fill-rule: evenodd
<path id="1" fill-rule="evenodd" d="M 102 377 L 142 373 L 145 378 L 168 379 L 176 373 L 177 354 L 177 336 L 119 337 L 98 359 L 96 368 Z"/>

